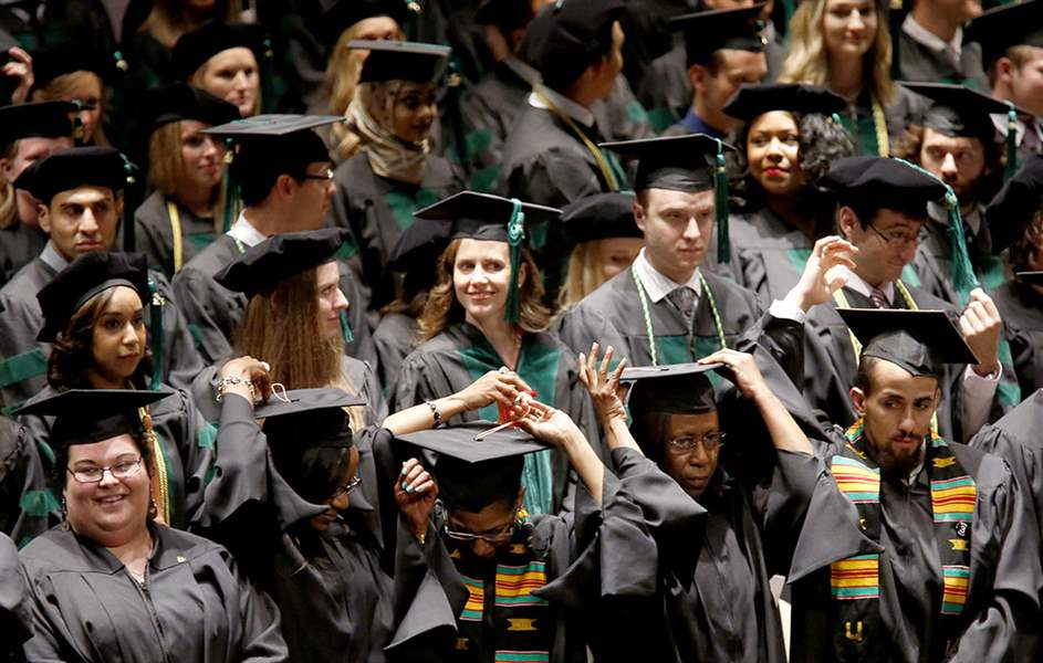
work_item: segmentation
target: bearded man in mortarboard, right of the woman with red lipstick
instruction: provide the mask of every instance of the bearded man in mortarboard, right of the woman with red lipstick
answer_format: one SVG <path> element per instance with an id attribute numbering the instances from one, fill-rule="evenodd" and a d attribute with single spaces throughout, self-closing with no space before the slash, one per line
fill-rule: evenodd
<path id="1" fill-rule="evenodd" d="M 952 188 L 959 200 L 959 218 L 967 252 L 985 290 L 1003 281 L 1003 265 L 993 255 L 989 229 L 981 207 L 1000 188 L 1003 176 L 1000 145 L 990 114 L 1007 113 L 1007 104 L 960 85 L 905 84 L 927 97 L 920 122 L 906 129 L 900 157 L 919 165 Z M 928 221 L 914 263 L 920 285 L 951 304 L 967 303 L 956 288 L 953 263 L 956 234 L 950 232 L 955 210 L 939 202 L 927 206 Z"/>

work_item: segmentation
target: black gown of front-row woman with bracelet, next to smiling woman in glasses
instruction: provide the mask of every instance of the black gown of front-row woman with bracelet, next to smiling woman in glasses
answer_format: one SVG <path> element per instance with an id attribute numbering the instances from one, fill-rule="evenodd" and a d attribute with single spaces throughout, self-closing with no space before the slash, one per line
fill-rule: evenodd
<path id="1" fill-rule="evenodd" d="M 359 509 L 374 512 L 376 473 L 368 438 L 389 433 L 369 430 L 355 436 L 363 483 L 352 493 L 347 517 L 361 527 L 336 522 L 316 533 L 309 519 L 328 507 L 309 503 L 290 487 L 272 464 L 250 404 L 237 396 L 228 400 L 236 419 L 222 413 L 221 474 L 207 491 L 196 526 L 227 545 L 275 600 L 291 661 L 383 662 L 392 633 L 392 578 L 382 567 L 380 536 L 351 516 Z M 378 526 L 378 520 L 369 525 Z"/>

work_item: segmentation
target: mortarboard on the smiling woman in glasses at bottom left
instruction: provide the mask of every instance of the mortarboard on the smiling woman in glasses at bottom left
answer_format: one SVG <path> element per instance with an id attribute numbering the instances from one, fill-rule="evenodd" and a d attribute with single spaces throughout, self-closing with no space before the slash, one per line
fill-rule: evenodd
<path id="1" fill-rule="evenodd" d="M 58 448 L 93 444 L 125 434 L 140 438 L 144 425 L 138 408 L 174 393 L 169 389 L 70 389 L 36 397 L 15 414 L 54 417 L 49 442 Z"/>

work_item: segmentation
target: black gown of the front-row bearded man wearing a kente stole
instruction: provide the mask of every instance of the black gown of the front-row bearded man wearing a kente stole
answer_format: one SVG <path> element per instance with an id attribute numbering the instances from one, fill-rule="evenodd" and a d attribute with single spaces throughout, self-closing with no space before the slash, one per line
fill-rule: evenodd
<path id="1" fill-rule="evenodd" d="M 818 450 L 827 466 L 844 444 L 843 432 L 835 429 Z M 962 444 L 949 442 L 949 446 L 978 488 L 970 533 L 970 581 L 955 633 L 945 633 L 939 612 L 941 561 L 929 472 L 921 471 L 911 487 L 882 477 L 879 541 L 862 534 L 854 504 L 825 473 L 821 481 L 834 482 L 834 488 L 809 507 L 789 575 L 793 661 L 839 660 L 834 643 L 844 642 L 844 624 L 835 623 L 828 565 L 873 552 L 880 555 L 879 612 L 884 632 L 867 635 L 883 649 L 883 657 L 867 651 L 866 660 L 1034 660 L 1043 586 L 1035 524 L 1007 463 Z M 956 638 L 952 659 L 945 656 L 947 636 Z"/>

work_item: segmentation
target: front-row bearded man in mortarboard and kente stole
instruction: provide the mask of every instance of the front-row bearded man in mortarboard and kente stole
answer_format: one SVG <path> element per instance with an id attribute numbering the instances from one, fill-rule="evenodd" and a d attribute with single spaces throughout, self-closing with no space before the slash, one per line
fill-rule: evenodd
<path id="1" fill-rule="evenodd" d="M 941 312 L 841 312 L 865 345 L 858 419 L 820 456 L 846 508 L 813 501 L 794 554 L 794 661 L 1032 661 L 1039 533 L 1010 467 L 931 430 L 946 364 L 973 361 Z"/>

